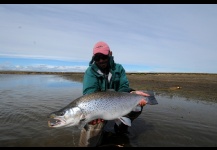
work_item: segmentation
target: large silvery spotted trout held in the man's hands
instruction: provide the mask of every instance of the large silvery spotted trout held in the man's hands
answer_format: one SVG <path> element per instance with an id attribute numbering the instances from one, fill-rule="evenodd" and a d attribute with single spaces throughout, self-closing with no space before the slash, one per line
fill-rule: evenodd
<path id="1" fill-rule="evenodd" d="M 49 127 L 77 126 L 83 128 L 85 124 L 94 119 L 116 120 L 131 126 L 131 121 L 123 117 L 135 110 L 141 99 L 146 99 L 147 104 L 157 104 L 154 96 L 144 97 L 126 92 L 95 92 L 83 95 L 73 100 L 66 107 L 48 115 Z"/>

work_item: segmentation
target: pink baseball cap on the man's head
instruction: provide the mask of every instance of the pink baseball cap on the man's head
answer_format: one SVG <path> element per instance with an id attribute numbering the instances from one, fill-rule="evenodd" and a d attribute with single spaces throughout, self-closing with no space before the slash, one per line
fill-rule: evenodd
<path id="1" fill-rule="evenodd" d="M 110 48 L 108 44 L 102 41 L 97 42 L 93 47 L 93 55 L 95 55 L 96 53 L 108 55 L 109 51 L 110 51 Z"/>

